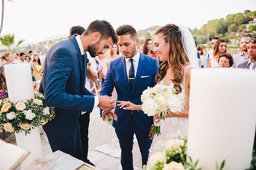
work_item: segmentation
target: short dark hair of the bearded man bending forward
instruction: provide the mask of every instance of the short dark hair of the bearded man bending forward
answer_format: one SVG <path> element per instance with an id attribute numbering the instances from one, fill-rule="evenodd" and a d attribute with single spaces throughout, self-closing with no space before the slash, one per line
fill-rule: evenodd
<path id="1" fill-rule="evenodd" d="M 93 32 L 99 32 L 101 34 L 101 39 L 107 39 L 111 37 L 113 43 L 117 43 L 118 41 L 118 37 L 114 28 L 109 22 L 105 20 L 95 20 L 91 22 L 86 31 L 83 32 L 83 36 L 88 36 Z"/>

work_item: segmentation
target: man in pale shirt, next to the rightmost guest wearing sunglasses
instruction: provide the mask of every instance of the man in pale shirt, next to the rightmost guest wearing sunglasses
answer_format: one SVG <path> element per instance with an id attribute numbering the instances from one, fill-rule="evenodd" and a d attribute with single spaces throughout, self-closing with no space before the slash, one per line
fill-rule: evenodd
<path id="1" fill-rule="evenodd" d="M 247 41 L 250 38 L 252 38 L 251 34 L 245 34 L 241 37 L 240 53 L 234 57 L 234 64 L 233 64 L 234 68 L 238 68 L 239 64 L 249 61 L 249 56 L 248 56 L 248 52 L 247 52 L 247 44 L 245 43 L 245 41 Z"/>

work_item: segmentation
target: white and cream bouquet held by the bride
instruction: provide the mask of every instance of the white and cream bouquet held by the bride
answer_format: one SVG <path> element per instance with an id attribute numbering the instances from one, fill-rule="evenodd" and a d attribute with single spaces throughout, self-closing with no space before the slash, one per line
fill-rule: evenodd
<path id="1" fill-rule="evenodd" d="M 184 93 L 176 94 L 176 90 L 170 86 L 157 84 L 147 88 L 141 95 L 142 110 L 147 116 L 158 116 L 165 120 L 166 114 L 183 111 L 185 107 Z M 160 122 L 154 121 L 152 132 L 157 136 L 160 132 Z"/>

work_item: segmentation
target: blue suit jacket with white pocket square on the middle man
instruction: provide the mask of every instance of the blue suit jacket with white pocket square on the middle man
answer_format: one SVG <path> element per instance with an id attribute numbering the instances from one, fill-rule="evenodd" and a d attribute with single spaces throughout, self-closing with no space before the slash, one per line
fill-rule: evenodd
<path id="1" fill-rule="evenodd" d="M 140 54 L 139 66 L 135 76 L 134 86 L 132 90 L 129 86 L 128 76 L 126 72 L 125 58 L 119 57 L 115 61 L 110 62 L 109 70 L 106 74 L 106 79 L 101 89 L 101 96 L 111 96 L 111 93 L 116 88 L 118 101 L 130 101 L 134 104 L 141 103 L 141 94 L 147 87 L 155 86 L 155 77 L 157 75 L 159 63 L 155 58 Z M 148 117 L 142 111 L 126 111 L 115 108 L 117 121 L 113 122 L 113 126 L 117 129 L 124 130 L 133 112 L 134 121 L 137 128 L 142 131 L 149 131 L 152 124 L 152 117 Z"/>

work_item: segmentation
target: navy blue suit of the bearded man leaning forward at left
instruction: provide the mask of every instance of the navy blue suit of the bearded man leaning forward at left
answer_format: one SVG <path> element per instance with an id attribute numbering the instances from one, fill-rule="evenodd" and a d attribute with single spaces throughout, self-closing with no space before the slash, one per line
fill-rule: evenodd
<path id="1" fill-rule="evenodd" d="M 40 84 L 40 92 L 45 94 L 47 106 L 56 108 L 55 118 L 43 127 L 53 151 L 59 149 L 56 141 L 73 139 L 75 142 L 78 139 L 78 117 L 81 111 L 91 113 L 95 102 L 93 94 L 85 88 L 86 69 L 83 69 L 82 56 L 75 36 L 50 48 L 46 54 Z M 84 67 L 86 60 L 87 56 Z M 76 144 L 77 142 L 79 145 L 79 141 L 76 141 Z M 73 143 L 73 146 L 76 144 Z M 69 148 L 67 151 L 64 149 L 63 152 L 71 152 L 72 156 L 79 158 L 77 152 L 80 151 L 71 151 L 74 149 L 76 148 L 71 148 L 70 151 Z"/>

